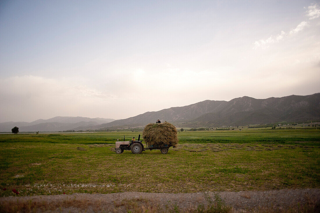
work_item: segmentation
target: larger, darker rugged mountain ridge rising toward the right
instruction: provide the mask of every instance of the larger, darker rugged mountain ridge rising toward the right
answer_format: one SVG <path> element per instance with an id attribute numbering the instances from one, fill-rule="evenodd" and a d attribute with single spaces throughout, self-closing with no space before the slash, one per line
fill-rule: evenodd
<path id="1" fill-rule="evenodd" d="M 90 129 L 144 126 L 156 122 L 156 119 L 189 127 L 320 119 L 320 93 L 267 99 L 244 96 L 228 102 L 206 100 L 188 106 L 146 112 L 131 118 L 93 126 Z"/>

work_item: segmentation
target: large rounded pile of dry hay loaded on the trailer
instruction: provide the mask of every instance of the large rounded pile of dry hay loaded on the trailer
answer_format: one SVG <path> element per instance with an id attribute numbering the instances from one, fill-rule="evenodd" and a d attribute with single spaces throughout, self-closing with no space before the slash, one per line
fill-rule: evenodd
<path id="1" fill-rule="evenodd" d="M 148 124 L 144 127 L 142 137 L 148 145 L 163 144 L 176 147 L 178 144 L 177 129 L 171 123 Z"/>

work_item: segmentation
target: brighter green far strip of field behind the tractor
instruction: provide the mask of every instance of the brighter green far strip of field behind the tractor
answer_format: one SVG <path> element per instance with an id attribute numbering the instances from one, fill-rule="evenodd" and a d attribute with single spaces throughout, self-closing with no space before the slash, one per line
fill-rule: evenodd
<path id="1" fill-rule="evenodd" d="M 79 134 L 0 134 L 1 142 L 44 142 L 44 143 L 82 143 L 82 144 L 115 144 L 138 137 L 142 132 L 119 131 L 104 133 Z M 178 132 L 179 143 L 252 143 L 252 142 L 319 142 L 320 130 L 316 129 L 244 129 L 221 131 L 184 131 Z M 312 143 L 311 143 L 312 144 Z"/>

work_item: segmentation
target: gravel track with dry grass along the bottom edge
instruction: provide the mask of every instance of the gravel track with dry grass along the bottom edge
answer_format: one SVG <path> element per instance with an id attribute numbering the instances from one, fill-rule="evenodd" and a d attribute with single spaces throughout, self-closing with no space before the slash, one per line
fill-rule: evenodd
<path id="1" fill-rule="evenodd" d="M 1 212 L 319 212 L 320 189 L 0 198 Z"/>

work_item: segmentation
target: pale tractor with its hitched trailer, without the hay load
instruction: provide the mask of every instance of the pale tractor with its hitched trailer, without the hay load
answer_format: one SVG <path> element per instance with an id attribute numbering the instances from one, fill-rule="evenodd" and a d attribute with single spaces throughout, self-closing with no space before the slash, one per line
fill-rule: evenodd
<path id="1" fill-rule="evenodd" d="M 142 144 L 142 140 L 140 141 L 140 135 L 138 137 L 137 141 L 125 141 L 125 136 L 123 141 L 117 141 L 116 142 L 116 153 L 121 154 L 124 150 L 131 150 L 133 154 L 140 154 L 143 151 L 146 150 L 154 150 L 159 149 L 162 154 L 166 154 L 169 151 L 170 146 L 169 145 L 161 145 L 161 146 L 153 146 L 146 144 L 146 147 Z"/>

